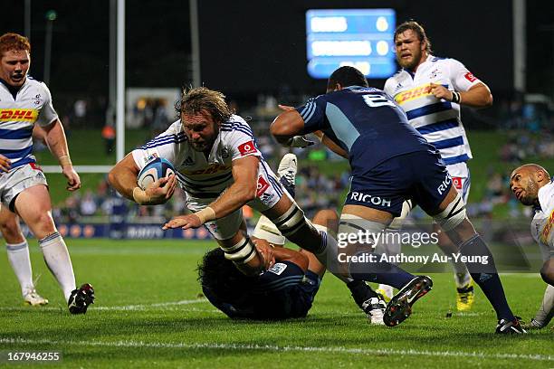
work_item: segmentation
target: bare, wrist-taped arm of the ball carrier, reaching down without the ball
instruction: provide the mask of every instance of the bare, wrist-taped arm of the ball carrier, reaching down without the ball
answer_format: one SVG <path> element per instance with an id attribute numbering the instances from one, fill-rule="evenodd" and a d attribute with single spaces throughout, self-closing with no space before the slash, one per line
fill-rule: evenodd
<path id="1" fill-rule="evenodd" d="M 245 203 L 250 202 L 256 197 L 258 185 L 258 166 L 260 159 L 258 156 L 246 156 L 233 161 L 233 179 L 234 184 L 230 185 L 214 203 L 210 203 L 205 209 L 194 213 L 179 215 L 167 222 L 162 228 L 183 229 L 198 228 L 205 222 L 213 221 L 218 218 L 233 213 L 240 209 Z"/>

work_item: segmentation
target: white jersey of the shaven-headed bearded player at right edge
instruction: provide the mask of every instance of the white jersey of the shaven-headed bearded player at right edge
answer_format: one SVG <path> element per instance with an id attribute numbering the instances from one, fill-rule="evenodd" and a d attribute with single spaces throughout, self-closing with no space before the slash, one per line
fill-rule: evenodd
<path id="1" fill-rule="evenodd" d="M 533 239 L 554 250 L 554 183 L 549 182 L 539 189 L 540 209 L 536 210 L 531 222 Z"/>

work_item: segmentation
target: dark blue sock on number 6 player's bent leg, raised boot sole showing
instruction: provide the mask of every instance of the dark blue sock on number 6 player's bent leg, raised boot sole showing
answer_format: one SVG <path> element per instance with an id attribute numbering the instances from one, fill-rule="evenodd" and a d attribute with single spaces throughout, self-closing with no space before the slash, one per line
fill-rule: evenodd
<path id="1" fill-rule="evenodd" d="M 361 252 L 358 255 L 360 254 Z M 380 254 L 371 253 L 371 255 L 375 255 L 376 261 L 350 262 L 350 275 L 353 279 L 387 284 L 396 289 L 402 289 L 410 280 L 416 278 L 415 275 L 394 264 L 377 261 L 381 257 Z"/>

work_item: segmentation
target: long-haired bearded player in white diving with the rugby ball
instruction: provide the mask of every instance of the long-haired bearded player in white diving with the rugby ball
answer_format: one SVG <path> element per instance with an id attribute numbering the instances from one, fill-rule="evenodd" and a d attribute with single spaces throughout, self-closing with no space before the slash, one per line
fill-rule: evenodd
<path id="1" fill-rule="evenodd" d="M 252 129 L 232 113 L 221 92 L 185 90 L 179 105 L 179 120 L 112 168 L 110 184 L 119 194 L 140 204 L 165 203 L 178 181 L 186 192 L 188 209 L 195 213 L 173 218 L 164 229 L 205 225 L 225 258 L 247 275 L 269 269 L 272 260 L 256 252 L 245 232 L 242 207 L 246 203 L 321 262 L 336 259 L 328 253 L 337 252 L 337 241 L 327 232 L 318 231 L 283 190 L 256 147 Z M 171 162 L 176 175 L 160 178 L 141 190 L 137 176 L 153 157 Z M 296 158 L 293 161 L 296 167 Z"/>

